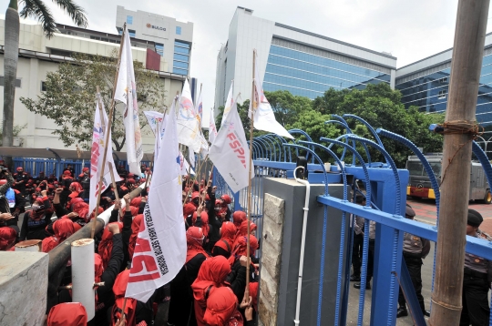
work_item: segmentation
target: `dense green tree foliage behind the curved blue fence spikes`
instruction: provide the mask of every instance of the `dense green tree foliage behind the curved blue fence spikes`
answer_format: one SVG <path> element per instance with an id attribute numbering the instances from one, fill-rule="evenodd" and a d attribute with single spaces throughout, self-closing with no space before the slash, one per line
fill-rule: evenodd
<path id="1" fill-rule="evenodd" d="M 336 120 L 332 115 L 343 116 L 343 114 L 353 114 L 362 117 L 374 129 L 382 127 L 386 130 L 395 132 L 405 138 L 410 139 L 418 147 L 424 148 L 425 152 L 440 152 L 442 150 L 442 137 L 431 133 L 428 126 L 433 123 L 442 123 L 443 114 L 425 114 L 419 112 L 417 107 L 405 106 L 401 102 L 401 93 L 391 89 L 387 84 L 367 85 L 363 90 L 343 89 L 340 91 L 333 88 L 327 90 L 323 97 L 311 100 L 307 97 L 296 97 L 290 92 L 279 90 L 275 92 L 265 92 L 265 96 L 272 105 L 275 117 L 287 130 L 298 128 L 305 131 L 314 142 L 320 143 L 320 138 L 337 138 L 347 131 L 344 127 L 337 124 L 325 124 L 325 121 Z M 238 105 L 245 134 L 250 135 L 250 120 L 248 118 L 249 100 L 242 105 Z M 216 125 L 220 126 L 223 107 L 219 107 L 219 115 Z M 351 131 L 361 137 L 375 141 L 374 136 L 361 122 L 354 118 L 346 118 Z M 255 130 L 254 136 L 266 134 Z M 296 139 L 305 140 L 299 134 Z M 384 148 L 395 160 L 398 168 L 405 168 L 407 156 L 411 151 L 404 145 L 389 138 L 382 138 Z M 328 146 L 328 144 L 323 144 Z M 352 143 L 351 143 L 352 145 Z M 356 144 L 356 148 L 367 161 L 364 148 L 361 144 Z M 374 148 L 368 147 L 371 161 L 384 161 L 384 157 Z M 333 147 L 333 151 L 341 155 L 343 148 Z M 326 162 L 332 162 L 326 152 L 318 151 L 317 154 Z M 352 155 L 347 154 L 345 162 L 352 162 Z"/>

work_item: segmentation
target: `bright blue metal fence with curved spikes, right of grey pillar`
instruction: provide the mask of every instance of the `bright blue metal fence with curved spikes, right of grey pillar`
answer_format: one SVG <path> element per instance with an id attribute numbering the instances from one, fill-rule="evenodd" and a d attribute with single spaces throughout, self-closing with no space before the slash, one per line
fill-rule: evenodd
<path id="1" fill-rule="evenodd" d="M 398 169 L 391 158 L 391 155 L 384 149 L 384 144 L 380 139 L 386 138 L 388 141 L 397 141 L 411 149 L 415 155 L 420 158 L 424 164 L 425 170 L 429 175 L 432 187 L 436 192 L 437 217 L 439 215 L 439 186 L 432 168 L 426 161 L 424 155 L 408 139 L 395 135 L 384 129 L 374 130 L 367 122 L 360 117 L 345 115 L 343 117 L 333 116 L 337 124 L 343 126 L 347 133 L 336 139 L 321 138 L 314 142 L 305 132 L 299 129 L 293 129 L 289 132 L 302 135 L 306 141 L 286 141 L 276 135 L 267 135 L 253 139 L 253 162 L 254 178 L 252 182 L 253 206 L 251 216 L 256 223 L 261 225 L 262 217 L 262 180 L 265 177 L 275 178 L 292 178 L 292 170 L 296 167 L 295 159 L 304 156 L 308 159 L 308 170 L 310 172 L 322 171 L 317 183 L 324 183 L 325 193 L 318 197 L 318 202 L 324 205 L 325 219 L 323 229 L 329 227 L 332 217 L 327 215 L 328 207 L 333 207 L 343 211 L 343 221 L 341 231 L 341 246 L 338 263 L 338 289 L 336 293 L 336 313 L 334 321 L 322 322 L 322 293 L 323 281 L 319 284 L 319 301 L 317 325 L 333 324 L 344 325 L 347 321 L 348 311 L 348 281 L 351 270 L 352 246 L 354 232 L 350 228 L 345 228 L 346 219 L 360 216 L 365 219 L 365 229 L 369 229 L 369 222 L 376 222 L 376 236 L 374 248 L 374 279 L 373 291 L 370 308 L 371 325 L 395 325 L 396 309 L 399 283 L 405 292 L 408 307 L 413 316 L 415 325 L 425 325 L 425 319 L 415 296 L 412 281 L 408 270 L 405 267 L 405 261 L 402 259 L 403 253 L 403 236 L 405 232 L 415 236 L 429 239 L 436 242 L 437 228 L 426 225 L 415 220 L 405 219 L 405 201 L 406 186 L 408 180 L 408 171 Z M 372 133 L 372 138 L 360 138 L 351 133 L 348 123 L 345 119 L 354 118 L 359 123 L 364 124 Z M 333 123 L 333 120 L 330 122 Z M 355 149 L 355 144 L 363 145 L 364 152 L 359 153 Z M 343 154 L 336 155 L 333 147 L 343 148 Z M 384 156 L 384 162 L 371 162 L 367 148 L 374 148 Z M 492 166 L 490 165 L 487 154 L 477 143 L 473 143 L 473 152 L 480 160 L 487 172 L 489 184 L 492 184 Z M 348 186 L 353 191 L 346 192 L 343 199 L 336 199 L 329 195 L 327 186 L 330 175 L 324 170 L 323 160 L 320 154 L 328 154 L 334 166 L 338 167 L 342 175 L 343 185 Z M 344 164 L 343 157 L 353 156 L 352 164 Z M 362 207 L 351 202 L 351 196 L 360 191 L 358 184 L 363 184 L 364 191 L 361 193 L 366 197 L 366 206 Z M 247 208 L 247 188 L 242 189 L 239 193 L 232 194 L 231 189 L 220 177 L 218 171 L 214 172 L 214 184 L 218 186 L 219 193 L 229 193 L 234 197 L 234 209 Z M 347 188 L 347 187 L 345 187 Z M 437 220 L 438 223 L 438 220 Z M 259 227 L 260 232 L 261 228 Z M 325 233 L 325 232 L 324 232 Z M 260 233 L 261 234 L 261 233 Z M 347 238 L 348 237 L 348 238 Z M 364 305 L 365 305 L 365 283 L 366 270 L 368 264 L 368 243 L 369 232 L 364 232 L 364 250 L 362 263 L 362 281 L 359 297 L 357 325 L 363 325 L 364 322 Z M 346 241 L 348 239 L 348 241 Z M 348 243 L 348 245 L 343 245 Z M 324 246 L 324 239 L 323 239 Z M 324 257 L 322 249 L 322 260 Z M 436 252 L 436 251 L 435 251 Z M 472 253 L 487 260 L 492 260 L 492 247 L 484 239 L 466 237 L 466 252 Z M 435 253 L 436 255 L 436 253 Z M 323 263 L 322 263 L 323 266 Z M 344 273 L 343 273 L 344 270 Z M 435 270 L 435 269 L 434 269 Z M 320 280 L 323 280 L 323 268 L 320 270 Z M 343 281 L 344 280 L 344 281 Z M 344 289 L 341 288 L 344 284 Z M 434 288 L 434 271 L 432 286 Z M 367 312 L 367 310 L 366 310 Z M 490 325 L 492 325 L 492 320 Z"/>

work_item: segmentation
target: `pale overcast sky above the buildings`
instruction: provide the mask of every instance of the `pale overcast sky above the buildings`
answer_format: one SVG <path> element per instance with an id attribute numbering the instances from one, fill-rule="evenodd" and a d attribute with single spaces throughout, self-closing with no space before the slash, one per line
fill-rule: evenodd
<path id="1" fill-rule="evenodd" d="M 70 25 L 52 2 L 45 0 L 56 21 Z M 213 107 L 216 58 L 227 41 L 236 6 L 253 15 L 329 36 L 397 57 L 405 66 L 453 46 L 457 0 L 76 0 L 87 11 L 88 28 L 117 33 L 117 5 L 175 17 L 194 24 L 190 74 L 203 83 L 203 107 Z M 7 0 L 0 0 L 2 8 Z M 489 17 L 492 16 L 489 12 Z M 490 19 L 490 18 L 489 18 Z M 490 20 L 489 20 L 490 22 Z M 492 28 L 487 26 L 487 33 Z M 208 112 L 208 110 L 207 110 Z M 209 114 L 204 121 L 208 126 Z"/>

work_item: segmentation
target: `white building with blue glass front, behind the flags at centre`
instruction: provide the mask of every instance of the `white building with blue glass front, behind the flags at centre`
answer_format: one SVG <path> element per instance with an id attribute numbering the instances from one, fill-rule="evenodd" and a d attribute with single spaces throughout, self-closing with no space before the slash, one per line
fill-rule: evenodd
<path id="1" fill-rule="evenodd" d="M 252 53 L 257 50 L 265 91 L 288 90 L 293 95 L 321 97 L 329 88 L 395 86 L 396 58 L 330 37 L 282 25 L 252 15 L 238 6 L 229 38 L 217 56 L 215 113 L 223 106 L 231 81 L 240 101 L 251 97 Z"/>

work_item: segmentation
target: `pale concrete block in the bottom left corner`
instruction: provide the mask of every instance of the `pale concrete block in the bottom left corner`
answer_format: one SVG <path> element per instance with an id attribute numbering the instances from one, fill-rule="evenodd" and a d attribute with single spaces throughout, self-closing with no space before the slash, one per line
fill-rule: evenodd
<path id="1" fill-rule="evenodd" d="M 43 325 L 48 255 L 0 251 L 0 261 L 0 325 Z"/>

